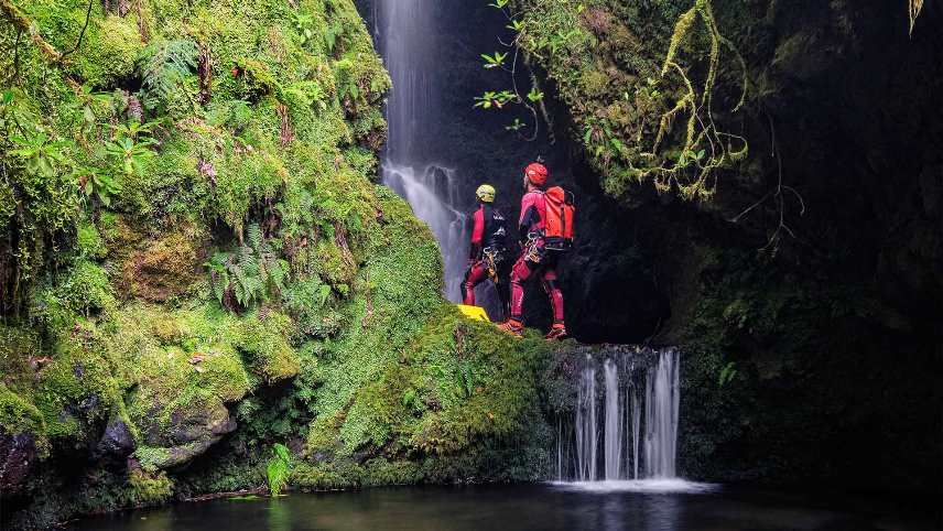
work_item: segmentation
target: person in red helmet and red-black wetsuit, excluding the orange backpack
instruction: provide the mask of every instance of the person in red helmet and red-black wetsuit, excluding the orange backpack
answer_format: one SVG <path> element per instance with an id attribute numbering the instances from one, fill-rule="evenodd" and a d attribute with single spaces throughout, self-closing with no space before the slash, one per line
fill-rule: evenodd
<path id="1" fill-rule="evenodd" d="M 539 274 L 543 290 L 553 307 L 553 327 L 548 339 L 563 339 L 567 336 L 563 318 L 563 292 L 556 281 L 559 256 L 545 248 L 543 237 L 546 220 L 546 203 L 543 187 L 548 177 L 546 166 L 535 162 L 524 170 L 527 193 L 521 199 L 521 216 L 518 228 L 523 250 L 511 269 L 511 316 L 501 325 L 501 329 L 520 336 L 523 332 L 521 313 L 524 302 L 524 282 Z"/>

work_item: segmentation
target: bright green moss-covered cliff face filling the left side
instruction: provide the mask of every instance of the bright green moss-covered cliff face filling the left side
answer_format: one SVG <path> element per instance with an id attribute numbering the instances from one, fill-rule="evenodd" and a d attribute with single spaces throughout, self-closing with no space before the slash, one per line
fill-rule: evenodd
<path id="1" fill-rule="evenodd" d="M 4 529 L 258 488 L 277 442 L 301 488 L 541 474 L 546 347 L 445 304 L 373 183 L 349 0 L 2 15 Z"/>

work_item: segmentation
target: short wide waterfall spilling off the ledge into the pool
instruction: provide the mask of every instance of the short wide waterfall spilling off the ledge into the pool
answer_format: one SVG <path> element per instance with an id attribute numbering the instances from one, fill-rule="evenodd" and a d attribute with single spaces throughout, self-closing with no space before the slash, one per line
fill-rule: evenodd
<path id="1" fill-rule="evenodd" d="M 576 380 L 574 405 L 574 474 L 577 481 L 670 479 L 676 475 L 680 355 L 676 349 L 606 347 L 587 354 Z M 597 397 L 597 357 L 601 362 L 603 394 Z M 597 411 L 601 410 L 601 433 Z M 557 476 L 571 434 L 559 425 Z M 597 455 L 601 435 L 603 453 Z M 631 448 L 631 453 L 629 453 Z M 601 463 L 599 462 L 601 457 Z M 603 478 L 596 470 L 601 466 Z"/>

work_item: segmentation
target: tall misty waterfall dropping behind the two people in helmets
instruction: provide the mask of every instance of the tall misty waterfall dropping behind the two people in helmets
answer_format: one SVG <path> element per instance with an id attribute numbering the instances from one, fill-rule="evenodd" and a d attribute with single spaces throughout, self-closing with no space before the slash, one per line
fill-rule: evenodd
<path id="1" fill-rule="evenodd" d="M 388 142 L 380 175 L 432 229 L 442 251 L 445 296 L 459 300 L 469 234 L 455 172 L 429 153 L 430 124 L 442 117 L 435 77 L 441 63 L 436 6 L 424 0 L 375 0 L 373 34 L 393 86 L 387 101 Z"/>

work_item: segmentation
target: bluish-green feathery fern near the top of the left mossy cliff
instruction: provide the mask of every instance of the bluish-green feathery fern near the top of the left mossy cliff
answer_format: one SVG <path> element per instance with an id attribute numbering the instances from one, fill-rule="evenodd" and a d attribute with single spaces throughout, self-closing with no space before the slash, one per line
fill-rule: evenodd
<path id="1" fill-rule="evenodd" d="M 199 48 L 186 39 L 155 41 L 138 56 L 138 74 L 141 76 L 141 99 L 153 109 L 177 88 L 184 77 L 196 68 Z"/>

